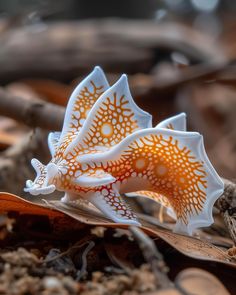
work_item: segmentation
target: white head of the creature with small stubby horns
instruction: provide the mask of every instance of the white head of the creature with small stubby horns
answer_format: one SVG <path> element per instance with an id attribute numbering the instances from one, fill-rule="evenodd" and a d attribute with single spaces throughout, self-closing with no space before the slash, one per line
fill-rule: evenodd
<path id="1" fill-rule="evenodd" d="M 34 181 L 27 180 L 25 192 L 37 196 L 39 194 L 47 195 L 53 193 L 56 189 L 55 178 L 58 175 L 58 167 L 54 163 L 43 165 L 37 159 L 32 159 L 31 164 L 37 175 Z"/>

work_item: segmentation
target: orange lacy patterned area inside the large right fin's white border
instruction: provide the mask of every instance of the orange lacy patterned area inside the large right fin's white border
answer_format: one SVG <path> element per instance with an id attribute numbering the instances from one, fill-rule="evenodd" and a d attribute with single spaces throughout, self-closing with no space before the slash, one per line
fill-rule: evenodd
<path id="1" fill-rule="evenodd" d="M 187 224 L 188 214 L 198 214 L 206 200 L 203 166 L 173 137 L 150 134 L 132 142 L 107 172 L 119 181 L 129 177 L 148 180 L 150 190 L 166 197 L 177 218 Z"/>

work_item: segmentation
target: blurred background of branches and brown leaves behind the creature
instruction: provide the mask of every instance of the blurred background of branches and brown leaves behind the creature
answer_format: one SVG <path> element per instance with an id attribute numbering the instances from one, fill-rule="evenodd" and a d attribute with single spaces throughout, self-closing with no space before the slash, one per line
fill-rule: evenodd
<path id="1" fill-rule="evenodd" d="M 27 108 L 54 104 L 63 111 L 95 65 L 110 83 L 127 73 L 136 103 L 154 124 L 186 112 L 188 129 L 204 135 L 219 174 L 233 179 L 235 32 L 230 0 L 1 0 L 0 188 L 22 193 L 32 171 L 16 170 L 32 155 L 46 162 L 45 134 L 59 129 L 60 120 L 45 126 L 43 115 L 32 125 Z"/>

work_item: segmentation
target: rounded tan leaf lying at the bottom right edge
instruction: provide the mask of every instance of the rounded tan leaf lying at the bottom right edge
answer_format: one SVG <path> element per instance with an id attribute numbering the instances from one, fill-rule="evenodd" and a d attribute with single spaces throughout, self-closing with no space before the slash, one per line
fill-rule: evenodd
<path id="1" fill-rule="evenodd" d="M 185 291 L 184 294 L 193 294 L 194 290 L 195 295 L 230 295 L 214 275 L 198 268 L 181 271 L 176 278 L 176 284 Z"/>

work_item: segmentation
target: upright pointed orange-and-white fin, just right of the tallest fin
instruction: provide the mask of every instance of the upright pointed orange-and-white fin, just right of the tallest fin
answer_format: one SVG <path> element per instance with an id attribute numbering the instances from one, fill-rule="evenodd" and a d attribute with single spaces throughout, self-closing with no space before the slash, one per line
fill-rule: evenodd
<path id="1" fill-rule="evenodd" d="M 123 75 L 95 103 L 79 136 L 66 152 L 78 155 L 86 149 L 110 148 L 134 131 L 150 127 L 151 118 L 133 101 Z"/>

